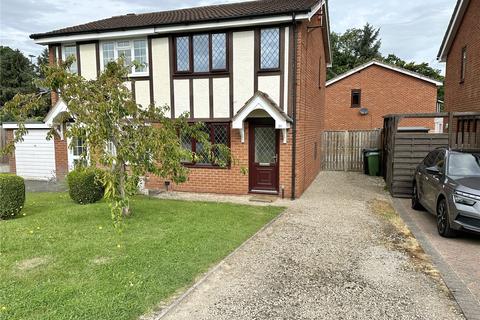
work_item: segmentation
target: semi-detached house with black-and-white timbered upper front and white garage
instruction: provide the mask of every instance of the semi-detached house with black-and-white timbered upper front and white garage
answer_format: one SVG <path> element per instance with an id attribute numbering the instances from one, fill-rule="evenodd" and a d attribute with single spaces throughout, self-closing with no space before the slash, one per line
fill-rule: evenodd
<path id="1" fill-rule="evenodd" d="M 189 180 L 169 189 L 295 198 L 320 170 L 326 67 L 331 63 L 326 0 L 261 0 L 164 12 L 127 14 L 33 34 L 50 62 L 72 55 L 87 79 L 124 56 L 138 104 L 167 104 L 171 117 L 190 113 L 206 123 L 212 142 L 230 146 L 236 162 L 223 169 L 186 163 Z M 43 123 L 29 124 L 10 159 L 27 178 L 61 179 L 82 151 L 81 141 L 44 136 L 68 106 L 53 94 Z M 16 124 L 7 124 L 10 136 Z M 186 148 L 199 151 L 194 140 Z M 245 169 L 248 173 L 245 174 Z M 169 185 L 148 177 L 147 189 Z"/>

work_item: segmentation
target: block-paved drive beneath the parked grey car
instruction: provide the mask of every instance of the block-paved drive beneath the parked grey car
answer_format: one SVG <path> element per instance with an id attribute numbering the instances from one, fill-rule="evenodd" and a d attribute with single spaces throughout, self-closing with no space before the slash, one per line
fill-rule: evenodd
<path id="1" fill-rule="evenodd" d="M 409 199 L 395 199 L 394 203 L 433 257 L 467 318 L 480 320 L 480 236 L 465 233 L 458 238 L 442 238 L 437 233 L 434 215 L 412 210 Z"/>

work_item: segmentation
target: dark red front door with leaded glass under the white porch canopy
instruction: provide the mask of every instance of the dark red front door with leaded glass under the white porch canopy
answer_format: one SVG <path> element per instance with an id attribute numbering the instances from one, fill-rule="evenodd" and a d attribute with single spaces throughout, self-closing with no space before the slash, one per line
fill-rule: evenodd
<path id="1" fill-rule="evenodd" d="M 250 122 L 250 192 L 278 193 L 278 141 L 273 121 Z"/>

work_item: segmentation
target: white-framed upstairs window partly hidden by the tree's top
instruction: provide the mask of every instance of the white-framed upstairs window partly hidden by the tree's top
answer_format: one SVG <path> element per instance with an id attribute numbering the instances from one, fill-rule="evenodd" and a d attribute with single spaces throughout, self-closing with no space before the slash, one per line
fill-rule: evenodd
<path id="1" fill-rule="evenodd" d="M 144 75 L 148 72 L 147 59 L 147 40 L 120 40 L 102 43 L 102 61 L 103 67 L 111 62 L 123 57 L 125 65 L 131 65 L 133 61 L 140 64 L 138 67 L 132 67 L 132 75 Z"/>

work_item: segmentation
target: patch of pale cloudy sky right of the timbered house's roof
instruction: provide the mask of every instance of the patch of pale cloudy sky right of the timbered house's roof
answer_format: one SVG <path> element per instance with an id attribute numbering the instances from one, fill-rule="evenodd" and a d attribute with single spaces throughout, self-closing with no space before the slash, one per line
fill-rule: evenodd
<path id="1" fill-rule="evenodd" d="M 370 23 L 380 28 L 381 52 L 407 61 L 428 62 L 443 70 L 436 60 L 455 2 L 452 0 L 332 0 L 331 29 L 344 32 Z"/>

